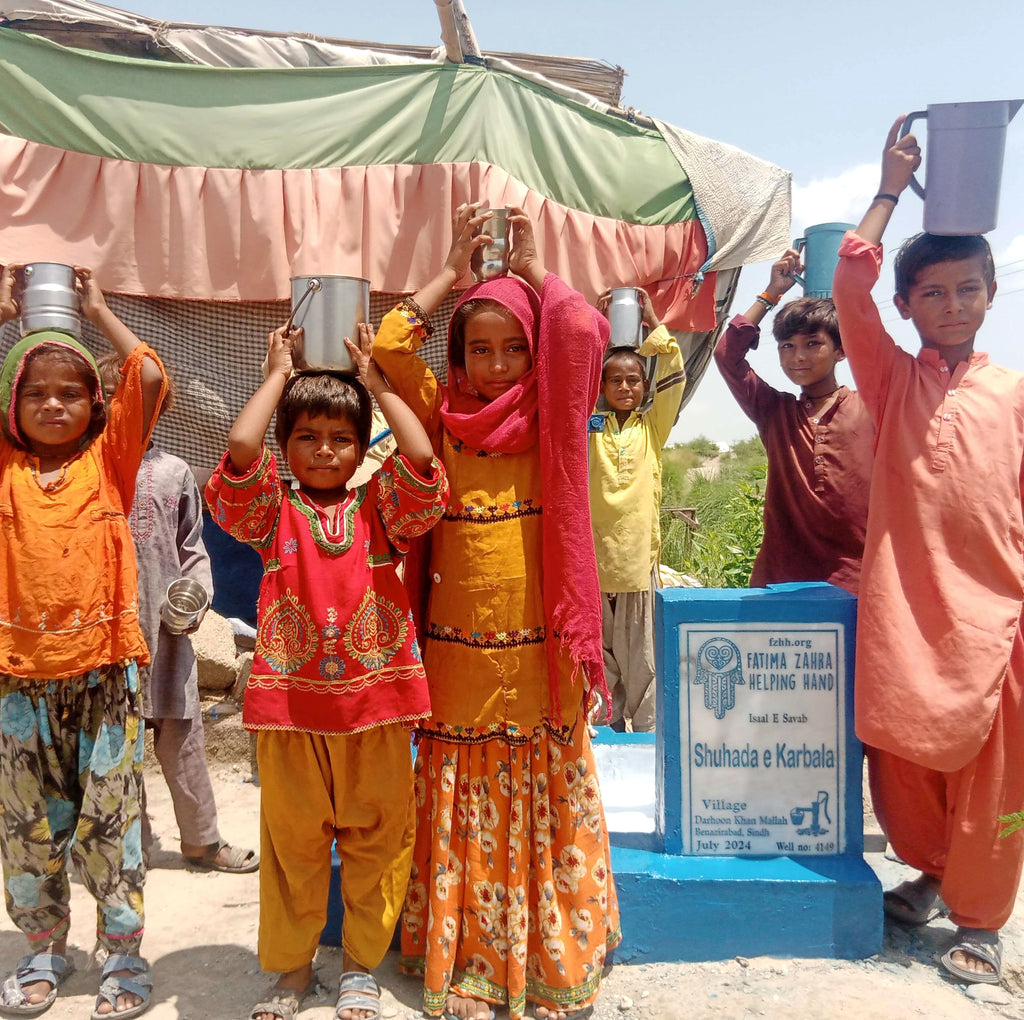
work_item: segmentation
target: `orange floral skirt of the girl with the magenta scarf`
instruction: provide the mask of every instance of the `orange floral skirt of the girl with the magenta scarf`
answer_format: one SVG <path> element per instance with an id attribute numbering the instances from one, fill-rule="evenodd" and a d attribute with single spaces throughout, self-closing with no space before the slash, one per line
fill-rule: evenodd
<path id="1" fill-rule="evenodd" d="M 622 939 L 594 755 L 581 718 L 565 746 L 424 735 L 401 968 L 424 1009 L 450 993 L 565 1012 L 593 1002 Z"/>

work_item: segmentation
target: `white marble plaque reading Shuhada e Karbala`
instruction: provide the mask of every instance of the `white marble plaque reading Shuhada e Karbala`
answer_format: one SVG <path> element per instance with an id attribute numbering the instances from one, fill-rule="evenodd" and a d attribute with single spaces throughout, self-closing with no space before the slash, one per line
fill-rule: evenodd
<path id="1" fill-rule="evenodd" d="M 681 624 L 683 852 L 846 849 L 845 628 Z"/>

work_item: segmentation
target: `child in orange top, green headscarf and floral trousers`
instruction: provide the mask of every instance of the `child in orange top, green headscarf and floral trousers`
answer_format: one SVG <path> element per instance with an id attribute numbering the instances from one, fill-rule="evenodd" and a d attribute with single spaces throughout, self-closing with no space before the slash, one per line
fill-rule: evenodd
<path id="1" fill-rule="evenodd" d="M 67 334 L 30 334 L 0 369 L 0 847 L 7 910 L 30 946 L 0 1012 L 45 1012 L 71 973 L 70 857 L 109 953 L 93 1016 L 127 1018 L 153 990 L 139 957 L 138 666 L 150 655 L 127 514 L 166 384 L 90 270 L 75 271 L 83 314 L 125 363 L 110 406 L 92 355 Z M 7 266 L 2 321 L 17 314 L 13 283 Z"/>

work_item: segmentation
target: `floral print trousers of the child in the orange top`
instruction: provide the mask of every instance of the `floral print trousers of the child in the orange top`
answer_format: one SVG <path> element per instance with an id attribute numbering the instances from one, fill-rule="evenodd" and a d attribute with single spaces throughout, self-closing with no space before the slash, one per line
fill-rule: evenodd
<path id="1" fill-rule="evenodd" d="M 71 926 L 67 863 L 99 943 L 142 940 L 143 726 L 134 662 L 62 680 L 0 675 L 0 855 L 14 924 L 42 949 Z"/>

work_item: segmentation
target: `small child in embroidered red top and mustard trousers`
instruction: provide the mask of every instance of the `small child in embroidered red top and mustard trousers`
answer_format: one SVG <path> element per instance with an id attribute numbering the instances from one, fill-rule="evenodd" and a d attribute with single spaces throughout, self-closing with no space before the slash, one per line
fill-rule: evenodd
<path id="1" fill-rule="evenodd" d="M 359 347 L 346 341 L 358 379 L 292 376 L 298 336 L 285 327 L 269 335 L 267 377 L 206 490 L 214 519 L 264 564 L 243 722 L 257 733 L 261 784 L 259 959 L 281 977 L 250 1016 L 291 1020 L 316 984 L 337 841 L 345 918 L 336 1015 L 364 1020 L 380 1016 L 369 972 L 387 951 L 409 881 L 409 727 L 430 711 L 395 564 L 440 516 L 447 484 L 423 427 L 370 360 L 369 327 Z M 371 393 L 399 455 L 350 487 L 370 444 Z M 263 444 L 275 409 L 297 487 Z"/>

